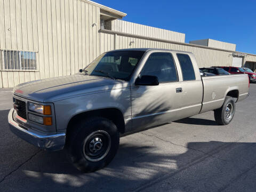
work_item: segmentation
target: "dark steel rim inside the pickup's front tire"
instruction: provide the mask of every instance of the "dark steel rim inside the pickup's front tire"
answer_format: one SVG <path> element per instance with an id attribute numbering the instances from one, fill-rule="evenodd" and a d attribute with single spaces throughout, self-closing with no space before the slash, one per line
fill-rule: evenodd
<path id="1" fill-rule="evenodd" d="M 84 157 L 92 162 L 98 162 L 109 152 L 111 138 L 106 131 L 95 131 L 88 135 L 83 142 Z"/>

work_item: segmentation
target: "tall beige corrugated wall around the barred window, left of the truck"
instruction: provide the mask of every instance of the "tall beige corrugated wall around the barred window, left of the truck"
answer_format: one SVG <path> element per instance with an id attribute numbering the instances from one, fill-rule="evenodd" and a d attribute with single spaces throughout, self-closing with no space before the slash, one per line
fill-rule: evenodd
<path id="1" fill-rule="evenodd" d="M 75 74 L 100 54 L 100 9 L 83 1 L 0 0 L 0 26 L 0 49 L 37 52 L 37 70 L 0 68 L 0 87 Z"/>

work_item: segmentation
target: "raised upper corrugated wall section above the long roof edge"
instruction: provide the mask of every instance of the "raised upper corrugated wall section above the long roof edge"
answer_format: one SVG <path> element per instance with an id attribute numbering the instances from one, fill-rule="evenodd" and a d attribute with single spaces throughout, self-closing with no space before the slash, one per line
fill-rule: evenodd
<path id="1" fill-rule="evenodd" d="M 169 41 L 176 41 L 181 43 L 185 42 L 185 34 L 165 29 L 159 29 L 156 27 L 140 25 L 138 23 L 123 20 L 111 21 L 111 30 L 133 35 L 141 35 L 145 37 L 154 37 Z"/>

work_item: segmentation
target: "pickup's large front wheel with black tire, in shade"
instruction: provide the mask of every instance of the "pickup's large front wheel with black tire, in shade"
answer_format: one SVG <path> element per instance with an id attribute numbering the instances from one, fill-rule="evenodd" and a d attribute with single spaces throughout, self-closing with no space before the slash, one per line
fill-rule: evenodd
<path id="1" fill-rule="evenodd" d="M 115 157 L 119 147 L 119 132 L 109 119 L 82 119 L 70 128 L 74 131 L 69 131 L 67 138 L 68 156 L 79 171 L 97 171 Z"/>

